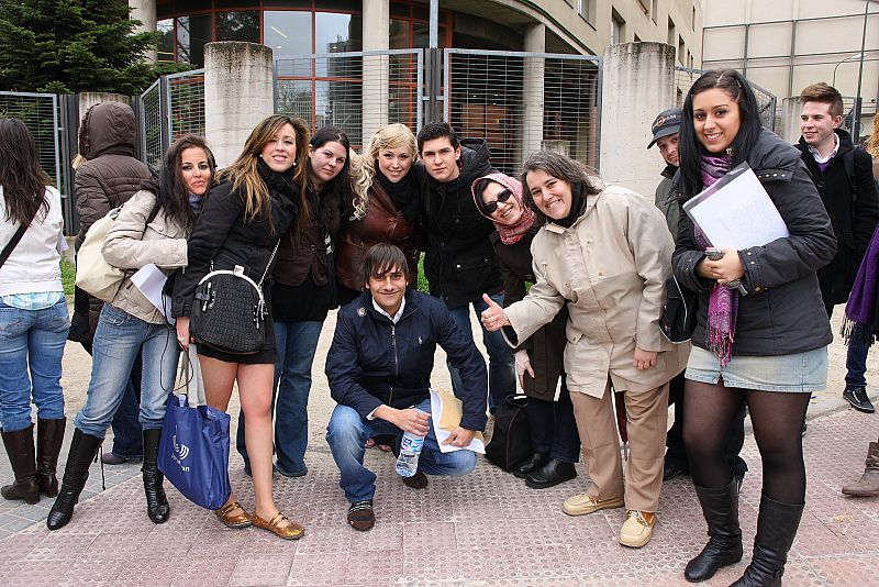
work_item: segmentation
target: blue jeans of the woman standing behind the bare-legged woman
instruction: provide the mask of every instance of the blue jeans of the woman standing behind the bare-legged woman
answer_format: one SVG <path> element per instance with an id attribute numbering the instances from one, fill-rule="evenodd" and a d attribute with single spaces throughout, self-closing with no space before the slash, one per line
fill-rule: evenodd
<path id="1" fill-rule="evenodd" d="M 275 452 L 278 472 L 288 477 L 308 473 L 305 448 L 309 444 L 309 392 L 311 366 L 323 322 L 275 322 L 275 341 L 279 363 L 275 365 L 276 396 L 271 401 L 275 412 Z M 238 414 L 235 447 L 249 469 L 247 448 L 244 445 L 244 413 Z"/>

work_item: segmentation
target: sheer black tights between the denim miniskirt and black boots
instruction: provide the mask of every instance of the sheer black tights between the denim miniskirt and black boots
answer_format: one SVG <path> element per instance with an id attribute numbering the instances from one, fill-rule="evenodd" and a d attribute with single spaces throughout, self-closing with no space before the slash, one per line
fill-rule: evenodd
<path id="1" fill-rule="evenodd" d="M 810 394 L 756 391 L 687 380 L 683 442 L 690 473 L 699 487 L 730 484 L 733 472 L 723 456 L 726 431 L 747 401 L 754 438 L 763 461 L 763 492 L 782 503 L 805 502 L 802 425 Z"/>

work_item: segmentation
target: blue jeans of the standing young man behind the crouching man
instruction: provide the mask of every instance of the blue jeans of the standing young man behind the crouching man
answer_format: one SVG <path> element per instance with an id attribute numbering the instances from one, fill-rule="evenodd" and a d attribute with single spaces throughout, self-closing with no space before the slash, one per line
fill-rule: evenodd
<path id="1" fill-rule="evenodd" d="M 491 296 L 500 306 L 503 306 L 503 294 L 496 294 Z M 503 403 L 507 396 L 515 394 L 515 366 L 513 358 L 513 351 L 507 341 L 503 339 L 501 331 L 489 332 L 486 326 L 482 326 L 482 321 L 479 318 L 482 311 L 488 308 L 488 303 L 482 301 L 472 302 L 474 311 L 476 311 L 476 319 L 482 328 L 482 344 L 486 345 L 488 351 L 488 409 L 494 413 L 494 407 Z M 468 339 L 472 339 L 472 329 L 470 328 L 470 310 L 467 306 L 461 306 L 449 310 L 452 319 L 464 332 Z M 448 373 L 452 375 L 452 387 L 457 397 L 461 397 L 461 380 L 458 369 L 448 365 Z"/>

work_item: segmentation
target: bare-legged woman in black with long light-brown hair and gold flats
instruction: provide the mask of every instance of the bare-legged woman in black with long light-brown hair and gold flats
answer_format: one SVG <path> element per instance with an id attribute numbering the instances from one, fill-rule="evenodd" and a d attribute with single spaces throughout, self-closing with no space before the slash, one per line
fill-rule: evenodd
<path id="1" fill-rule="evenodd" d="M 175 283 L 173 313 L 178 317 L 177 339 L 183 347 L 190 342 L 189 315 L 196 287 L 211 263 L 214 269 L 244 266 L 247 276 L 258 281 L 280 236 L 293 224 L 303 225 L 308 217 L 302 198 L 308 139 L 302 121 L 286 115 L 269 117 L 251 132 L 238 158 L 219 174 L 221 182 L 211 192 L 189 239 L 189 266 Z M 270 288 L 264 288 L 263 292 L 270 297 Z M 270 308 L 271 303 L 266 306 Z M 230 528 L 253 524 L 282 539 L 296 540 L 304 534 L 304 528 L 278 511 L 271 495 L 271 391 L 278 352 L 270 313 L 265 328 L 266 345 L 254 354 L 229 354 L 199 346 L 210 406 L 226 410 L 232 386 L 237 380 L 253 467 L 253 513 L 244 510 L 234 492 L 215 513 Z"/>

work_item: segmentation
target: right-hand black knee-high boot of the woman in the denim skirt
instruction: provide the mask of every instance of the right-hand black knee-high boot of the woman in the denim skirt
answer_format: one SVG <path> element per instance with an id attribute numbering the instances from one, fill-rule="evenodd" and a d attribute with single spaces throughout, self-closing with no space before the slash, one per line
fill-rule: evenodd
<path id="1" fill-rule="evenodd" d="M 760 497 L 754 556 L 741 579 L 731 587 L 781 587 L 781 575 L 788 562 L 804 505 L 782 503 Z"/>

